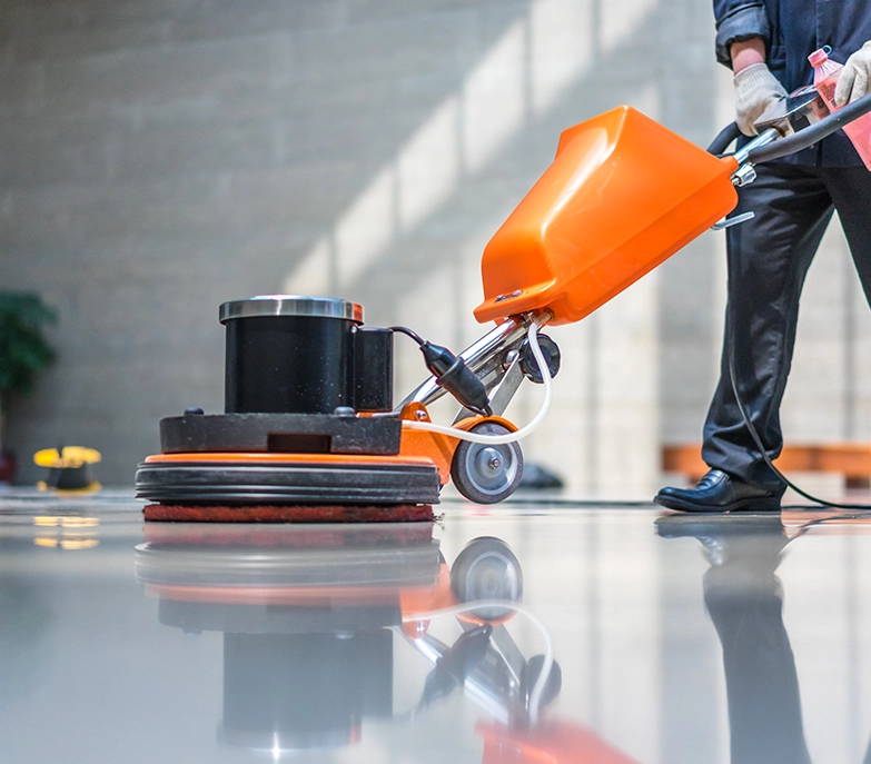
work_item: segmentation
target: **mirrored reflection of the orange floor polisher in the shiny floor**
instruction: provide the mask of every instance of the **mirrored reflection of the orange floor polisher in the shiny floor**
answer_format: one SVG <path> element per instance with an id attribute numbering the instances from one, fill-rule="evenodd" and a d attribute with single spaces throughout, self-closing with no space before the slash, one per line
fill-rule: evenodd
<path id="1" fill-rule="evenodd" d="M 224 633 L 219 742 L 275 758 L 338 748 L 360 740 L 367 718 L 425 718 L 463 692 L 485 712 L 475 727 L 484 764 L 574 764 L 582 754 L 631 764 L 581 725 L 538 716 L 562 676 L 545 655 L 526 659 L 511 636 L 523 572 L 508 545 L 473 539 L 448 568 L 432 529 L 146 526 L 136 575 L 159 599 L 160 623 Z M 453 644 L 429 633 L 442 616 L 461 627 Z M 394 715 L 403 644 L 433 668 L 416 706 Z"/>

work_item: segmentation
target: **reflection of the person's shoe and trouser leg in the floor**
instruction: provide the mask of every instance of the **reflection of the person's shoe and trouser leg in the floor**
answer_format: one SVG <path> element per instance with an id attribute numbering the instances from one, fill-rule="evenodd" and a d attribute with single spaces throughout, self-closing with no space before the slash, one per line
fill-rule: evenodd
<path id="1" fill-rule="evenodd" d="M 697 538 L 711 565 L 704 603 L 723 649 L 732 764 L 809 764 L 775 575 L 790 540 L 780 515 L 667 515 L 656 529 Z"/>

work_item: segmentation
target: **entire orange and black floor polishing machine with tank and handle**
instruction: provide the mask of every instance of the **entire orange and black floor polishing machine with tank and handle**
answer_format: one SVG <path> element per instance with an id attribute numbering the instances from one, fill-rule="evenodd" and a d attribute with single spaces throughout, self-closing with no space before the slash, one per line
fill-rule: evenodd
<path id="1" fill-rule="evenodd" d="M 560 367 L 541 328 L 583 319 L 716 227 L 754 161 L 819 140 L 850 109 L 786 138 L 771 127 L 725 156 L 725 146 L 706 151 L 631 107 L 565 130 L 484 250 L 474 312 L 496 326 L 458 355 L 405 327 L 368 327 L 363 308 L 342 299 L 224 304 L 225 413 L 191 408 L 160 421 L 160 454 L 136 477 L 146 519 L 430 519 L 448 480 L 473 502 L 507 498 L 523 472 L 517 440 L 544 418 Z M 735 137 L 726 132 L 720 143 Z M 394 405 L 397 333 L 420 346 L 432 376 Z M 502 415 L 524 379 L 543 384 L 544 403 L 517 428 Z M 446 394 L 462 408 L 441 426 L 427 407 Z"/>

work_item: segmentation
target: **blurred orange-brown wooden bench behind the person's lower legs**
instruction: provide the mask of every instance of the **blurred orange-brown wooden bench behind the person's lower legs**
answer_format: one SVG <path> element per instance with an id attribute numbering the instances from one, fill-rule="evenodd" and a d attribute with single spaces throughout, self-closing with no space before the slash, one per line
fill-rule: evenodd
<path id="1" fill-rule="evenodd" d="M 840 473 L 848 488 L 871 485 L 871 446 L 864 443 L 784 446 L 774 464 L 784 473 Z M 702 462 L 702 446 L 697 443 L 663 446 L 662 469 L 681 473 L 695 483 L 707 472 L 707 465 Z"/>

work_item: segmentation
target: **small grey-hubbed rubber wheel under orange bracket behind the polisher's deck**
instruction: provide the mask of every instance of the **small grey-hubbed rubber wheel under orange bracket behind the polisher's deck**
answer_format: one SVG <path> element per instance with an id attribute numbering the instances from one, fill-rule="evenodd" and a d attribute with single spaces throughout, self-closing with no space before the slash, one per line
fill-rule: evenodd
<path id="1" fill-rule="evenodd" d="M 506 435 L 511 430 L 495 421 L 483 421 L 471 431 Z M 496 504 L 508 498 L 522 477 L 523 452 L 517 443 L 492 446 L 461 440 L 451 463 L 451 479 L 457 490 L 477 504 Z"/>

